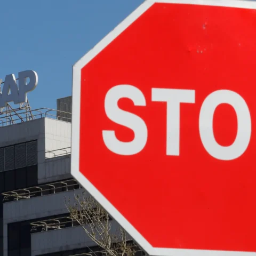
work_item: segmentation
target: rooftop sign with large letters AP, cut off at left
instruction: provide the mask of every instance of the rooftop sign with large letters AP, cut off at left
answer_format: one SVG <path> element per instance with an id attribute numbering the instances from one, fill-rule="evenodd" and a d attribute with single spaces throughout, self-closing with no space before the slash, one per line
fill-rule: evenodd
<path id="1" fill-rule="evenodd" d="M 38 83 L 38 76 L 33 70 L 18 73 L 19 87 L 13 74 L 5 76 L 5 81 L 0 79 L 0 108 L 6 107 L 8 102 L 14 104 L 27 102 L 27 92 L 33 91 Z M 29 83 L 27 80 L 29 78 Z"/>

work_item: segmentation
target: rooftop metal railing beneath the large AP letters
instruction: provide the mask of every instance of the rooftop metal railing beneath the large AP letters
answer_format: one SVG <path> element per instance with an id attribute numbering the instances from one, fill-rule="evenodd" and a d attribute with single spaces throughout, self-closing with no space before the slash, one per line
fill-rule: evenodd
<path id="1" fill-rule="evenodd" d="M 0 127 L 11 124 L 23 123 L 43 117 L 71 122 L 71 118 L 68 116 L 71 117 L 71 113 L 51 108 L 38 108 L 32 110 L 21 109 L 16 111 L 13 110 L 5 115 L 0 115 Z"/>

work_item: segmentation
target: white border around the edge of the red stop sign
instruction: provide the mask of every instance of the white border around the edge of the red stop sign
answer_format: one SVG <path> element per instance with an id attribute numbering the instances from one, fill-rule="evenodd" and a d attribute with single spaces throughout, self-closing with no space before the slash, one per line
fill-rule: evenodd
<path id="1" fill-rule="evenodd" d="M 212 251 L 190 249 L 165 249 L 151 246 L 146 239 L 129 223 L 121 213 L 79 172 L 79 126 L 80 126 L 80 90 L 81 69 L 100 53 L 111 41 L 137 20 L 154 3 L 197 4 L 256 9 L 256 2 L 238 0 L 147 0 L 129 17 L 122 21 L 113 31 L 103 38 L 91 51 L 77 61 L 73 67 L 72 100 L 72 139 L 71 139 L 71 174 L 87 191 L 113 216 L 114 219 L 137 241 L 149 255 L 155 256 L 255 256 L 256 252 Z M 86 147 L 86 145 L 84 145 Z"/>

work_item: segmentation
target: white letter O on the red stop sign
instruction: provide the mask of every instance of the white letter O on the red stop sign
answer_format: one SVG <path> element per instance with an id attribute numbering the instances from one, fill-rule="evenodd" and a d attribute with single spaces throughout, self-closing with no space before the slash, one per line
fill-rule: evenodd
<path id="1" fill-rule="evenodd" d="M 213 134 L 214 111 L 221 103 L 231 105 L 237 115 L 237 135 L 232 145 L 218 144 Z M 236 92 L 219 90 L 206 97 L 199 114 L 199 133 L 206 151 L 220 160 L 233 160 L 241 156 L 251 138 L 251 116 L 245 100 Z"/>

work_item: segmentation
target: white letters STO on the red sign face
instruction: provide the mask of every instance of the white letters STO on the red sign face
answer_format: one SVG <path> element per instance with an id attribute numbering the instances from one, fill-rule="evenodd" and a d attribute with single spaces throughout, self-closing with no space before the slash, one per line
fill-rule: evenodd
<path id="1" fill-rule="evenodd" d="M 180 103 L 195 103 L 195 90 L 152 89 L 151 100 L 166 102 L 166 155 L 180 154 Z M 105 111 L 107 117 L 134 132 L 130 142 L 119 141 L 115 131 L 102 131 L 106 147 L 119 155 L 134 155 L 146 145 L 148 131 L 145 122 L 137 115 L 119 109 L 118 100 L 129 98 L 135 106 L 146 106 L 143 93 L 132 85 L 117 85 L 106 94 Z M 214 138 L 213 116 L 222 103 L 231 105 L 237 115 L 237 135 L 230 146 L 221 146 Z M 161 132 L 161 131 L 159 131 Z M 214 158 L 228 161 L 241 156 L 251 139 L 251 115 L 245 100 L 236 92 L 219 90 L 208 95 L 199 113 L 199 134 L 206 151 Z M 157 134 L 155 134 L 157 135 Z"/>

